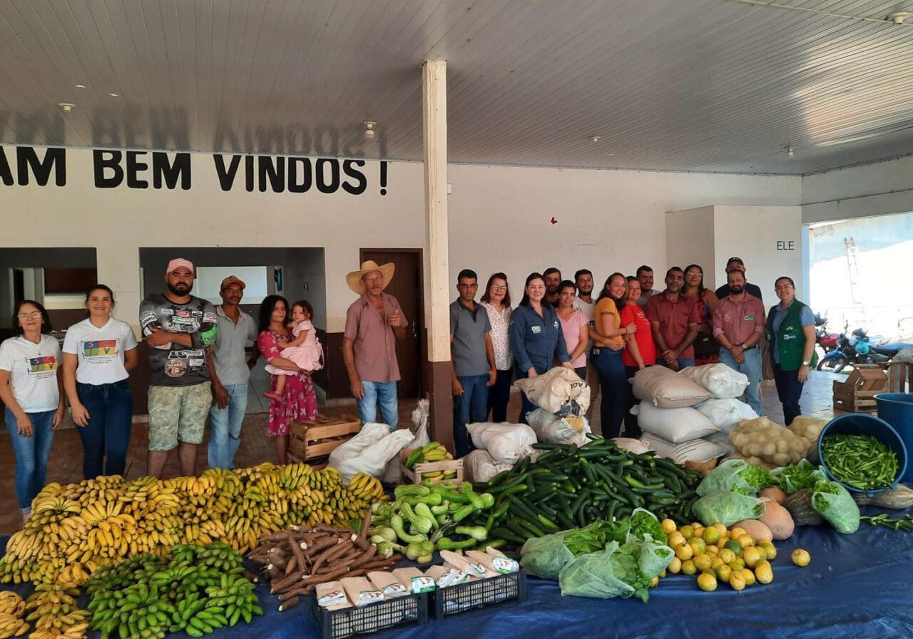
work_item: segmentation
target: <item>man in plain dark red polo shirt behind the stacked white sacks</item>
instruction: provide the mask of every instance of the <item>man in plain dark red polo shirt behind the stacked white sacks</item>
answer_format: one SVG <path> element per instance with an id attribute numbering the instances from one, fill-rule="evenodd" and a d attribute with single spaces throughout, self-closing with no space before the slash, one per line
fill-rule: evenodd
<path id="1" fill-rule="evenodd" d="M 646 300 L 646 319 L 653 329 L 656 363 L 680 371 L 694 366 L 694 340 L 700 315 L 694 299 L 681 294 L 685 273 L 679 267 L 666 271 L 666 290 Z"/>

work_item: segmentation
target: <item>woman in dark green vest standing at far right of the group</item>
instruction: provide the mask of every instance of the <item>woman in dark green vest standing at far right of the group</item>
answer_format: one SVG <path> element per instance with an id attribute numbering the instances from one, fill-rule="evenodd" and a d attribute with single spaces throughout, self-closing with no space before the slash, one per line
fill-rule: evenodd
<path id="1" fill-rule="evenodd" d="M 777 278 L 773 290 L 780 303 L 767 314 L 767 339 L 771 340 L 768 355 L 777 384 L 777 394 L 783 404 L 783 420 L 792 424 L 802 414 L 799 398 L 808 373 L 814 366 L 814 314 L 796 299 L 792 278 Z"/>

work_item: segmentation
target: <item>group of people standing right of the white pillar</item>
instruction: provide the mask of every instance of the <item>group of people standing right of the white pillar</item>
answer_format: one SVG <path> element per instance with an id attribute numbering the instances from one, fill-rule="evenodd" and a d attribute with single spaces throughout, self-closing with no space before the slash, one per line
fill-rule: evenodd
<path id="1" fill-rule="evenodd" d="M 516 308 L 504 273 L 488 278 L 479 302 L 477 274 L 460 271 L 457 299 L 450 306 L 456 454 L 472 449 L 466 425 L 507 421 L 512 379 L 535 377 L 561 365 L 591 386 L 591 406 L 602 396 L 602 435 L 639 437 L 631 408 L 638 402 L 629 382 L 658 364 L 673 371 L 721 362 L 749 379 L 745 402 L 761 414 L 761 378 L 766 367 L 783 405 L 787 425 L 801 414 L 803 383 L 814 365 L 812 310 L 795 299 L 792 278 L 777 278 L 780 303 L 765 314 L 761 289 L 745 278 L 745 264 L 732 257 L 727 283 L 705 288 L 697 264 L 671 267 L 665 288 L 654 288 L 654 272 L 613 273 L 593 297 L 593 273 L 574 279 L 551 267 L 530 273 Z M 768 361 L 762 361 L 763 340 Z M 525 424 L 536 406 L 520 395 L 517 421 Z"/>

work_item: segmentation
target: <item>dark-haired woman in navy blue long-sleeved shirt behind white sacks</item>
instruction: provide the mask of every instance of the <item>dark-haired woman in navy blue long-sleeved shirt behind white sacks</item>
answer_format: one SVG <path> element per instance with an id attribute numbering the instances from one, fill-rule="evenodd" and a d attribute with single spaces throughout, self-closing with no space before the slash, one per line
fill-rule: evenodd
<path id="1" fill-rule="evenodd" d="M 523 299 L 510 315 L 508 329 L 518 380 L 548 371 L 556 359 L 562 366 L 573 369 L 558 314 L 544 297 L 545 278 L 539 273 L 530 273 L 523 288 Z M 526 414 L 537 406 L 530 402 L 526 393 L 520 393 L 520 401 L 519 423 L 526 424 Z"/>

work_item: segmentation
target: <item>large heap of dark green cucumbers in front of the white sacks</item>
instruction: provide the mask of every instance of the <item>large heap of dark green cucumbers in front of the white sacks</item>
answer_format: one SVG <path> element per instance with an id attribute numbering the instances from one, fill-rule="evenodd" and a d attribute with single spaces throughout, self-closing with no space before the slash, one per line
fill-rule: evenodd
<path id="1" fill-rule="evenodd" d="M 701 476 L 653 453 L 635 455 L 611 440 L 587 435 L 576 444 L 535 444 L 544 451 L 533 462 L 524 457 L 477 491 L 495 498 L 488 519 L 476 513 L 467 523 L 483 525 L 489 539 L 502 539 L 518 549 L 532 537 L 583 528 L 593 521 L 629 517 L 645 508 L 659 519 L 686 524 Z"/>

